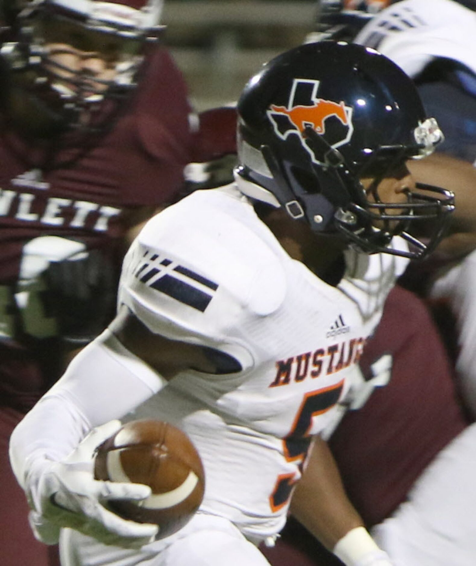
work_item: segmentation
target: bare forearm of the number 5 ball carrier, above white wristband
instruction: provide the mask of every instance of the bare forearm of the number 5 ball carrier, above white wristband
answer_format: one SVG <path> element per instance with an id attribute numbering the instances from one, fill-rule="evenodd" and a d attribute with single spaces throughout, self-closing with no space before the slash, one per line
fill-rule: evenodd
<path id="1" fill-rule="evenodd" d="M 335 460 L 324 440 L 316 439 L 307 468 L 295 488 L 291 513 L 329 550 L 362 518 L 347 498 Z"/>

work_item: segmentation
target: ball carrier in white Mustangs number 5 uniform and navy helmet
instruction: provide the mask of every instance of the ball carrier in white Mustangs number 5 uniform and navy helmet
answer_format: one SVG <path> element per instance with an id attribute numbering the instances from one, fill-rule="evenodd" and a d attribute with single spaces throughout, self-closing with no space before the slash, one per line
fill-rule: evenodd
<path id="1" fill-rule="evenodd" d="M 432 151 L 438 126 L 373 50 L 290 50 L 251 79 L 238 113 L 236 183 L 148 222 L 125 260 L 117 319 L 12 436 L 38 536 L 75 529 L 63 529 L 65 566 L 267 564 L 252 543 L 284 525 L 311 437 L 349 387 L 389 289 L 452 212 L 452 194 L 438 188 L 419 199 L 405 166 Z M 421 219 L 415 203 L 435 220 L 428 247 L 404 231 Z M 162 541 L 98 503 L 143 499 L 147 488 L 95 482 L 90 462 L 72 462 L 85 432 L 124 416 L 178 424 L 203 458 L 203 504 Z M 329 547 L 349 566 L 389 566 L 340 497 Z"/>

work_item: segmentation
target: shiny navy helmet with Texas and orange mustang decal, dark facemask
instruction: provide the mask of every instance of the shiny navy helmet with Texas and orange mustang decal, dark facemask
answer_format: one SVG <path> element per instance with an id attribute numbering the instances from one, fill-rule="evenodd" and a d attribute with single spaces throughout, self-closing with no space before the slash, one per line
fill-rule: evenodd
<path id="1" fill-rule="evenodd" d="M 376 187 L 441 139 L 400 67 L 361 45 L 321 41 L 278 55 L 246 85 L 236 173 L 243 192 L 284 207 L 316 233 L 344 235 L 370 253 L 421 258 L 440 241 L 453 194 L 420 186 L 396 205 L 382 202 Z M 371 200 L 363 178 L 373 179 Z M 422 220 L 433 225 L 425 241 L 410 235 Z M 396 234 L 409 252 L 391 247 Z"/>

